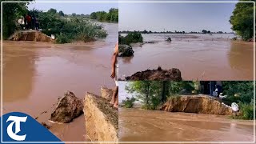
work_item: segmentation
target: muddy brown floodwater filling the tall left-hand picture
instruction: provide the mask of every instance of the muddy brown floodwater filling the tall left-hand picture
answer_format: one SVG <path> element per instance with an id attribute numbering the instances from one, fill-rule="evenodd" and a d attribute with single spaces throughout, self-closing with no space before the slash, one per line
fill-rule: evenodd
<path id="1" fill-rule="evenodd" d="M 84 98 L 113 87 L 110 58 L 118 40 L 118 24 L 103 24 L 106 39 L 90 43 L 3 42 L 3 114 L 18 111 L 49 124 L 50 112 L 66 90 Z M 43 113 L 46 112 L 46 113 Z M 43 113 L 43 114 L 41 114 Z M 84 117 L 68 124 L 50 123 L 62 141 L 85 141 Z"/>

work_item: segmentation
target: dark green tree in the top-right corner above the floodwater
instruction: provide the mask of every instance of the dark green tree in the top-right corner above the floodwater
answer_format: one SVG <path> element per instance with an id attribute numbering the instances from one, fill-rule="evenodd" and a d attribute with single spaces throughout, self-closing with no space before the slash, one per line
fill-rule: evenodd
<path id="1" fill-rule="evenodd" d="M 254 0 L 239 0 L 234 8 L 233 14 L 230 17 L 232 30 L 242 37 L 243 40 L 248 40 L 254 36 Z M 246 1 L 246 3 L 244 3 Z"/>

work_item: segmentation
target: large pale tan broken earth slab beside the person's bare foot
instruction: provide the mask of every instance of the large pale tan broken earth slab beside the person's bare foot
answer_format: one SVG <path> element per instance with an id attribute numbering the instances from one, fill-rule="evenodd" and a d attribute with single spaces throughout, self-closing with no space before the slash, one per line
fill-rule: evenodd
<path id="1" fill-rule="evenodd" d="M 93 142 L 118 142 L 118 110 L 109 101 L 87 93 L 84 99 L 86 135 Z"/>

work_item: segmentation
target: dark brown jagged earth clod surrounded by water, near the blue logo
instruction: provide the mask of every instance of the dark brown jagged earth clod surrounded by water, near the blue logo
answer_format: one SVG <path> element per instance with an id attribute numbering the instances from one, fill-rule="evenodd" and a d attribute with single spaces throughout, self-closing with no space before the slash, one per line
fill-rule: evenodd
<path id="1" fill-rule="evenodd" d="M 71 122 L 82 114 L 82 100 L 78 99 L 74 93 L 67 91 L 66 94 L 58 99 L 57 106 L 50 114 L 50 120 L 54 122 Z"/>

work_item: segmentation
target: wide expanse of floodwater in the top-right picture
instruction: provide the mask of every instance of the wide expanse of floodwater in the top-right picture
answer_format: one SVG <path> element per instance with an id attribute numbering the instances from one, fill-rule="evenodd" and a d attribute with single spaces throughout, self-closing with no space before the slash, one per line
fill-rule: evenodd
<path id="1" fill-rule="evenodd" d="M 134 57 L 119 58 L 119 78 L 137 71 L 178 68 L 183 80 L 252 80 L 253 42 L 231 41 L 234 34 L 142 34 Z M 170 37 L 172 42 L 165 40 Z"/>

